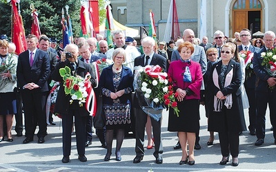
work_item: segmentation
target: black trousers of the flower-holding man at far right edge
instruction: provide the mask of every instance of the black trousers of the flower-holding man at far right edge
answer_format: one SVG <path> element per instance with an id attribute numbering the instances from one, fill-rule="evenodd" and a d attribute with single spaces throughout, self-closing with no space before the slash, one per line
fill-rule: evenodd
<path id="1" fill-rule="evenodd" d="M 270 120 L 273 127 L 276 127 L 276 92 L 256 92 L 257 105 L 257 123 L 256 136 L 257 138 L 264 138 L 266 131 L 266 109 L 267 104 L 270 111 Z M 276 139 L 276 129 L 273 130 L 274 139 Z"/>

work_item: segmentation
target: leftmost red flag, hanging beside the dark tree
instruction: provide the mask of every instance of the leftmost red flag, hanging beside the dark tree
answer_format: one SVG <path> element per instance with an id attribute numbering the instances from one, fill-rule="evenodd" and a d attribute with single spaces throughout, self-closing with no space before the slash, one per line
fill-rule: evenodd
<path id="1" fill-rule="evenodd" d="M 27 43 L 25 38 L 25 30 L 23 28 L 23 22 L 21 16 L 18 14 L 17 6 L 15 5 L 16 0 L 12 0 L 12 11 L 13 11 L 13 32 L 12 42 L 15 44 L 17 49 L 16 54 L 20 54 L 27 50 Z"/>

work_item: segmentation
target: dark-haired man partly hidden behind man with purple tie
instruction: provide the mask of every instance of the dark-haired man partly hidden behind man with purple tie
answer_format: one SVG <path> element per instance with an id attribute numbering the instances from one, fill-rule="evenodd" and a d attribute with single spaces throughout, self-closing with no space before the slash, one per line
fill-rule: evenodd
<path id="1" fill-rule="evenodd" d="M 57 65 L 57 54 L 50 52 L 49 47 L 50 47 L 50 39 L 48 39 L 48 37 L 45 35 L 41 36 L 39 39 L 39 50 L 43 50 L 44 52 L 47 52 L 49 59 L 50 59 L 51 74 L 47 80 L 49 91 L 50 91 L 50 89 L 52 89 L 52 87 L 50 87 L 50 83 L 52 81 L 51 75 Z M 50 92 L 48 92 L 48 96 L 49 96 L 49 94 L 50 94 Z M 52 113 L 49 114 L 49 119 L 48 119 L 47 123 L 50 125 L 56 125 L 55 122 L 53 122 Z"/>

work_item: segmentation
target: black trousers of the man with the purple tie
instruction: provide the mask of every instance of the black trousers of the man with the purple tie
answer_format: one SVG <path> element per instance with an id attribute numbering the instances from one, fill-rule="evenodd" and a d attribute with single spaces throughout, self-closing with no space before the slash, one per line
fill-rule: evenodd
<path id="1" fill-rule="evenodd" d="M 39 125 L 37 137 L 46 136 L 47 123 L 45 108 L 47 92 L 23 89 L 21 96 L 24 107 L 26 137 L 34 137 L 34 131 L 37 125 Z"/>

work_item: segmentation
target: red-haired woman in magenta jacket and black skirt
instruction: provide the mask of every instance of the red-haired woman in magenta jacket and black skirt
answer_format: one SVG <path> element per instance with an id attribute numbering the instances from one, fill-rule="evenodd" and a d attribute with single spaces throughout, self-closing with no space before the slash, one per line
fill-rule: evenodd
<path id="1" fill-rule="evenodd" d="M 194 147 L 195 133 L 199 131 L 199 99 L 202 83 L 200 64 L 191 61 L 194 46 L 184 42 L 177 48 L 181 58 L 173 61 L 168 68 L 168 75 L 172 77 L 173 87 L 177 94 L 179 117 L 173 109 L 169 111 L 168 131 L 178 131 L 182 157 L 179 164 L 195 164 Z M 189 152 L 187 152 L 187 141 Z"/>

